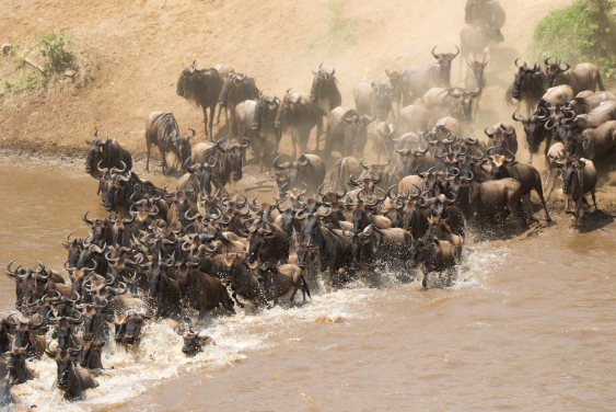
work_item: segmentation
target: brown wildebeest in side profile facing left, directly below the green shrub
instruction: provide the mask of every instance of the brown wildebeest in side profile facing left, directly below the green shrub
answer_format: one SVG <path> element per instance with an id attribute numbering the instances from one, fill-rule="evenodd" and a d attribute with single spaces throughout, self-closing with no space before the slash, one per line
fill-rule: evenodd
<path id="1" fill-rule="evenodd" d="M 561 62 L 565 60 L 556 59 L 555 62 L 549 62 L 549 57 L 545 59 L 545 72 L 546 72 L 546 88 L 554 88 L 560 84 L 569 84 L 573 89 L 573 94 L 578 94 L 585 90 L 595 91 L 598 85 L 598 90 L 605 91 L 603 82 L 601 81 L 601 75 L 595 65 L 591 62 L 582 62 L 571 69 L 571 66 L 565 61 L 567 67 L 562 68 Z"/>

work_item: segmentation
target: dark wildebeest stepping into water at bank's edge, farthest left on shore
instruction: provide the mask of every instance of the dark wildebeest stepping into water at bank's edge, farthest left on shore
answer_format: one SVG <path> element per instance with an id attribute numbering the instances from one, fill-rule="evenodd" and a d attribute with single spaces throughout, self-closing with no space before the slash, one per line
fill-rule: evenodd
<path id="1" fill-rule="evenodd" d="M 124 169 L 123 162 L 126 164 L 126 170 L 128 171 L 132 168 L 132 157 L 130 152 L 121 147 L 116 139 L 109 140 L 109 135 L 105 139 L 98 137 L 98 130 L 94 133 L 92 141 L 85 140 L 85 144 L 90 146 L 88 151 L 88 157 L 85 158 L 85 173 L 90 174 L 92 178 L 98 178 L 101 175 L 101 169 Z"/>

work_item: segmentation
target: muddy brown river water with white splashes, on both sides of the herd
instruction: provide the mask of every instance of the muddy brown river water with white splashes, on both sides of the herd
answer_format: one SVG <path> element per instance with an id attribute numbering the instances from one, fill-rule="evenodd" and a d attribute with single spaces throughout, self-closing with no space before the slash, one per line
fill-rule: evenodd
<path id="1" fill-rule="evenodd" d="M 96 182 L 0 172 L 0 262 L 61 270 L 60 242 L 86 233 L 83 213 L 106 215 Z M 109 344 L 101 386 L 84 401 L 61 401 L 49 359 L 30 363 L 37 378 L 15 392 L 44 411 L 614 410 L 616 225 L 588 233 L 560 225 L 468 249 L 449 289 L 384 274 L 380 288 L 212 317 L 201 328 L 218 345 L 191 359 L 179 336 L 151 324 L 139 351 Z M 0 299 L 13 308 L 7 277 Z"/>

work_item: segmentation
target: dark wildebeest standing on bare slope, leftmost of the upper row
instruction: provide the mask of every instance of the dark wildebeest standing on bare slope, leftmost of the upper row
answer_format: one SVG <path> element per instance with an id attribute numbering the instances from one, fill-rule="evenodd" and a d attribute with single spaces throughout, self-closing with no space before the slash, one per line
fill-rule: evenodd
<path id="1" fill-rule="evenodd" d="M 177 80 L 176 93 L 204 111 L 206 138 L 208 137 L 208 107 L 210 108 L 210 140 L 213 139 L 213 117 L 223 79 L 217 69 L 197 70 L 197 60 L 184 68 Z"/>

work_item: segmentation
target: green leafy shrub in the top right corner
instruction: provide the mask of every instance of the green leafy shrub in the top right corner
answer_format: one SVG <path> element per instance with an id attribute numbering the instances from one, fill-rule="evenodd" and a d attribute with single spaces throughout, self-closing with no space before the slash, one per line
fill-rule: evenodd
<path id="1" fill-rule="evenodd" d="M 602 76 L 616 76 L 616 0 L 574 0 L 551 11 L 535 26 L 533 48 L 542 61 L 592 62 Z"/>

